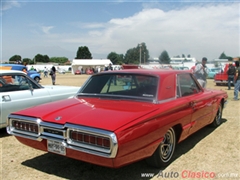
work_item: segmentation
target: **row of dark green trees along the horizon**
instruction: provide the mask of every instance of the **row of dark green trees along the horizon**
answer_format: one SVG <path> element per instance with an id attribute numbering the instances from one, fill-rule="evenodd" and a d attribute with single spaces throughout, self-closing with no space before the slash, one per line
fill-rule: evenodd
<path id="1" fill-rule="evenodd" d="M 191 55 L 184 54 L 174 56 L 177 58 L 190 58 Z M 136 47 L 130 48 L 127 50 L 126 54 L 118 54 L 116 52 L 110 52 L 107 55 L 107 59 L 110 59 L 113 64 L 146 64 L 149 60 L 149 50 L 147 49 L 146 44 L 143 42 L 137 44 Z M 92 59 L 92 54 L 87 46 L 81 46 L 78 48 L 75 59 Z M 220 54 L 219 59 L 228 59 L 229 61 L 233 60 L 232 57 L 227 56 L 224 52 Z M 170 57 L 166 50 L 158 57 L 159 63 L 170 64 Z M 67 57 L 51 57 L 48 55 L 37 54 L 33 59 L 23 58 L 20 55 L 14 55 L 9 59 L 9 63 L 23 63 L 23 64 L 37 64 L 41 63 L 58 63 L 59 65 L 70 65 L 71 62 Z"/>

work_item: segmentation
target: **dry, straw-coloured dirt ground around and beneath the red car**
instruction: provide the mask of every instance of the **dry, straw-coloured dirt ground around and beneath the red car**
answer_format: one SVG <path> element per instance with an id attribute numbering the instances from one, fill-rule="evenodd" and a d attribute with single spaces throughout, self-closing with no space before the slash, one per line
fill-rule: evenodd
<path id="1" fill-rule="evenodd" d="M 56 84 L 81 86 L 87 78 L 87 75 L 58 74 Z M 51 84 L 51 79 L 42 78 L 40 84 Z M 240 101 L 232 101 L 233 88 L 215 86 L 213 80 L 208 80 L 207 86 L 223 89 L 229 95 L 223 123 L 216 129 L 205 127 L 181 142 L 174 161 L 165 169 L 149 167 L 144 160 L 119 169 L 100 167 L 32 149 L 2 129 L 0 179 L 240 179 Z"/>

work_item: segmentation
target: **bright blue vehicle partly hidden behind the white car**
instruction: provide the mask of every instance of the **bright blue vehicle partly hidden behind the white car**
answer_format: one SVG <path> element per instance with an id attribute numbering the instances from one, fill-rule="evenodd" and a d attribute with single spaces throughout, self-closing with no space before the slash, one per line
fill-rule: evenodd
<path id="1" fill-rule="evenodd" d="M 1 64 L 1 69 L 24 71 L 27 75 L 34 79 L 37 83 L 41 80 L 41 74 L 34 70 L 27 70 L 27 67 L 22 64 Z"/>

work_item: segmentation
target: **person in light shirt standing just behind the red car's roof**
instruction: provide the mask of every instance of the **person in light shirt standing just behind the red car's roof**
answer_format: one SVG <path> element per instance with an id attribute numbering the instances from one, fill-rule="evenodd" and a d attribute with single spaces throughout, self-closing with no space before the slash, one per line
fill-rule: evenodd
<path id="1" fill-rule="evenodd" d="M 207 86 L 208 69 L 207 69 L 206 63 L 207 63 L 207 58 L 203 57 L 202 63 L 197 64 L 194 69 L 194 76 L 196 77 L 199 84 L 203 88 L 206 88 Z"/>

